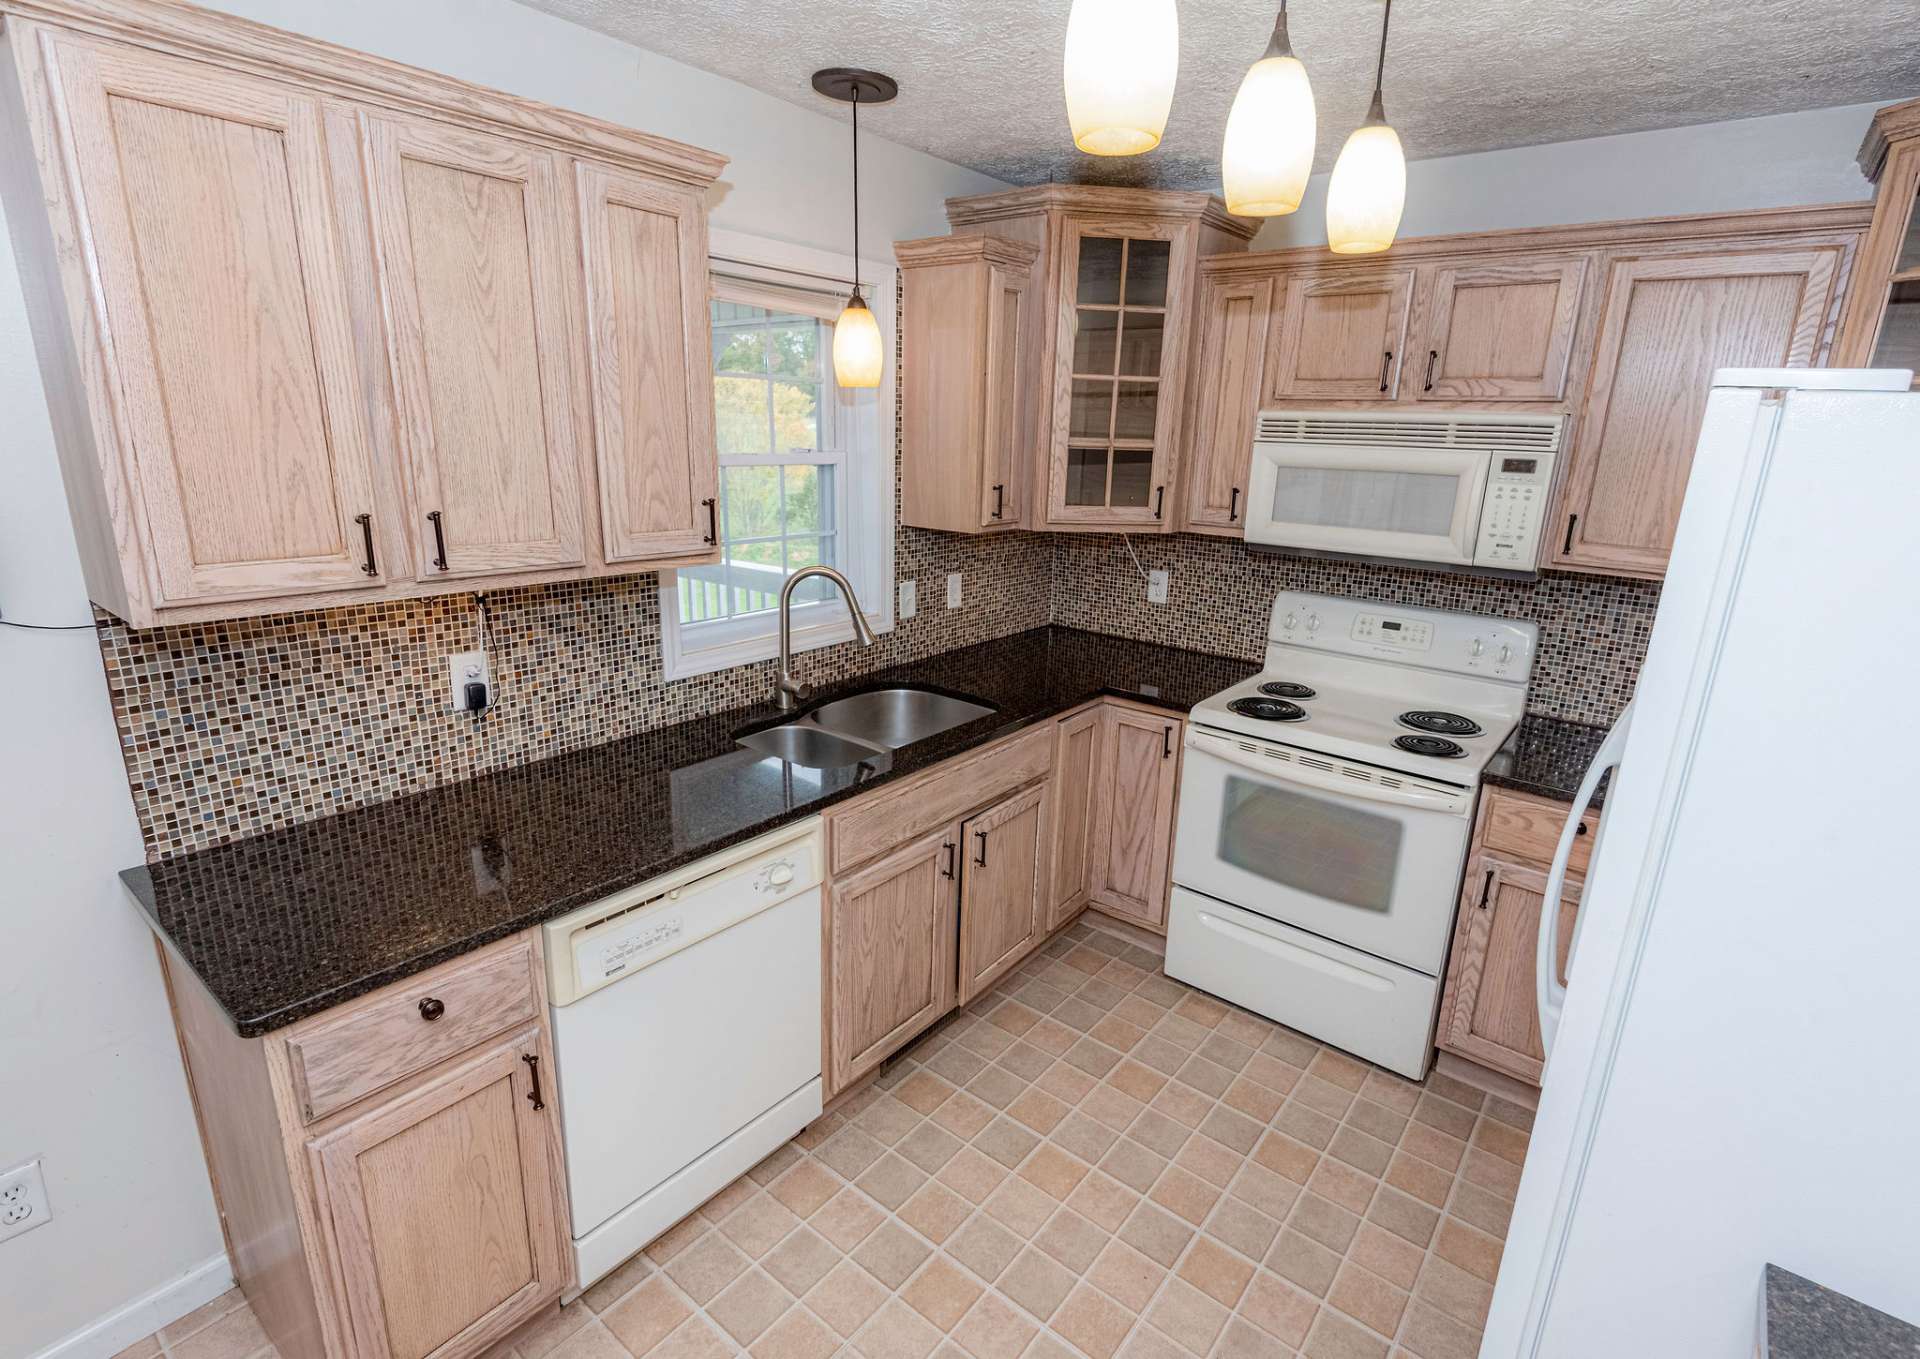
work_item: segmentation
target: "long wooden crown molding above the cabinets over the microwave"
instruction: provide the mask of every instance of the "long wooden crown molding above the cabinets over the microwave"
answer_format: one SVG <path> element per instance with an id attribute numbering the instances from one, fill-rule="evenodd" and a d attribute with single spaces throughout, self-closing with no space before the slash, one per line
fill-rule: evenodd
<path id="1" fill-rule="evenodd" d="M 1738 213 L 1690 213 L 1682 217 L 1638 217 L 1571 226 L 1517 226 L 1452 236 L 1413 236 L 1394 242 L 1377 255 L 1331 255 L 1325 246 L 1288 246 L 1242 255 L 1206 255 L 1200 273 L 1208 278 L 1273 274 L 1292 269 L 1379 271 L 1396 261 L 1434 255 L 1517 255 L 1607 246 L 1684 246 L 1690 240 L 1724 242 L 1728 236 L 1763 240 L 1770 234 L 1862 232 L 1874 217 L 1872 202 L 1816 203 L 1811 207 L 1755 207 Z"/>

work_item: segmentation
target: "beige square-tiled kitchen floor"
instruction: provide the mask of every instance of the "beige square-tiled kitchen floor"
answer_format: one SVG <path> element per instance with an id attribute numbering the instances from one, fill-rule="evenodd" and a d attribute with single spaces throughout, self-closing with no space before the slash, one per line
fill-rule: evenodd
<path id="1" fill-rule="evenodd" d="M 1530 1125 L 1083 921 L 495 1359 L 1473 1359 Z"/>

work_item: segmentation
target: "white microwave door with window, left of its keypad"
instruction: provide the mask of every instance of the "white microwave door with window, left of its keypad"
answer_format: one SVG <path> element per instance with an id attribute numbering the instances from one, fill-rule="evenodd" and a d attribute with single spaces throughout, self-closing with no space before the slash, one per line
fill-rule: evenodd
<path id="1" fill-rule="evenodd" d="M 1260 441 L 1246 541 L 1471 564 L 1490 465 L 1475 449 Z"/>

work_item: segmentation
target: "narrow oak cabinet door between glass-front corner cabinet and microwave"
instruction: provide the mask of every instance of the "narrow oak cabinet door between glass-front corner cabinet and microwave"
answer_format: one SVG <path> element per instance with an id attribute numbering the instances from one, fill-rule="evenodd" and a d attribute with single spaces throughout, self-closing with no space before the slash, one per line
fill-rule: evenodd
<path id="1" fill-rule="evenodd" d="M 1246 478 L 1267 353 L 1271 278 L 1210 282 L 1200 294 L 1194 436 L 1187 451 L 1187 528 L 1246 532 Z"/>

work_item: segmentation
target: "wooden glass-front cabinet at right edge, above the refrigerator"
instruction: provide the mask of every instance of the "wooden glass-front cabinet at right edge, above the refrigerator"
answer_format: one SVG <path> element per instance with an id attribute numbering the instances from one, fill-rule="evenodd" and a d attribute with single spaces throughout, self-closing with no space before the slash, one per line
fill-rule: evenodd
<path id="1" fill-rule="evenodd" d="M 1920 100 L 1874 115 L 1860 169 L 1880 192 L 1832 363 L 1920 372 Z"/>

